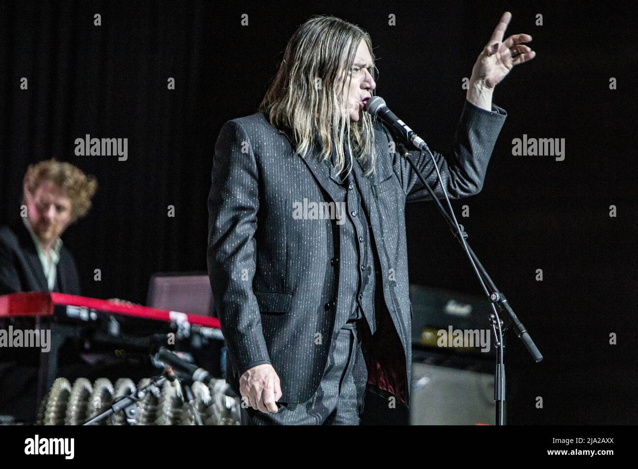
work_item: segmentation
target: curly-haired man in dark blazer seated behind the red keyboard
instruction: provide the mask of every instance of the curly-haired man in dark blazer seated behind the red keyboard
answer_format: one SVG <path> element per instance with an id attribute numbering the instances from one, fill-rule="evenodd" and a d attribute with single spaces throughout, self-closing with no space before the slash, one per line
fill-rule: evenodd
<path id="1" fill-rule="evenodd" d="M 71 251 L 61 235 L 91 208 L 98 183 L 63 161 L 30 165 L 24 176 L 20 217 L 0 227 L 0 295 L 17 292 L 80 294 Z M 14 325 L 14 327 L 16 327 Z M 25 326 L 27 327 L 27 326 Z M 0 350 L 0 415 L 32 421 L 36 411 L 38 354 Z M 85 364 L 68 356 L 61 375 L 78 375 Z"/>

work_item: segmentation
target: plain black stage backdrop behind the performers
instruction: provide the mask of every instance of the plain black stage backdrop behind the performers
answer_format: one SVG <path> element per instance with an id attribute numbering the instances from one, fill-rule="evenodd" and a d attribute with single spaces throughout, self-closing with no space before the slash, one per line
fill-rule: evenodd
<path id="1" fill-rule="evenodd" d="M 255 112 L 299 24 L 327 13 L 364 27 L 380 70 L 376 94 L 443 149 L 465 99 L 463 77 L 503 11 L 513 15 L 505 37 L 531 34 L 537 56 L 496 87 L 494 103 L 508 117 L 484 188 L 453 204 L 545 357 L 534 364 L 510 336 L 508 422 L 638 422 L 631 3 L 3 2 L 0 222 L 18 216 L 29 163 L 56 157 L 96 175 L 94 207 L 64 242 L 85 295 L 144 303 L 153 272 L 206 269 L 219 128 Z M 75 139 L 86 134 L 128 138 L 128 160 L 75 156 Z M 513 156 L 512 140 L 523 135 L 565 138 L 565 160 Z M 460 216 L 463 205 L 469 217 Z M 479 294 L 434 205 L 406 212 L 412 283 Z"/>

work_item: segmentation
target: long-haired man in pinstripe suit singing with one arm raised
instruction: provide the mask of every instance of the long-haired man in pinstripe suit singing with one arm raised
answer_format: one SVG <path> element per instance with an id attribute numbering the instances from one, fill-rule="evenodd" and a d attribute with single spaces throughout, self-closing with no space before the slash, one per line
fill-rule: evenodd
<path id="1" fill-rule="evenodd" d="M 528 34 L 503 41 L 510 18 L 472 69 L 452 149 L 433 152 L 451 198 L 481 190 L 507 116 L 494 87 L 535 56 Z M 365 31 L 314 17 L 288 42 L 260 112 L 219 133 L 208 268 L 246 424 L 359 424 L 366 387 L 409 403 L 404 204 L 429 196 L 364 112 L 374 70 Z M 408 158 L 443 197 L 429 156 Z"/>

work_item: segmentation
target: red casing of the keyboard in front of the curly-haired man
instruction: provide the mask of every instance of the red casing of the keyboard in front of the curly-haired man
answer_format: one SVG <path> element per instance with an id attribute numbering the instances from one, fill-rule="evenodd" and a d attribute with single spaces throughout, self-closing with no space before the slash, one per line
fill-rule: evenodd
<path id="1" fill-rule="evenodd" d="M 117 313 L 126 316 L 156 319 L 166 322 L 174 321 L 170 311 L 149 308 L 137 304 L 118 304 L 112 301 L 100 300 L 64 293 L 13 293 L 0 296 L 0 316 L 50 316 L 56 304 L 64 306 L 84 306 L 107 313 Z M 190 324 L 202 325 L 219 329 L 218 318 L 207 316 L 186 315 Z"/>

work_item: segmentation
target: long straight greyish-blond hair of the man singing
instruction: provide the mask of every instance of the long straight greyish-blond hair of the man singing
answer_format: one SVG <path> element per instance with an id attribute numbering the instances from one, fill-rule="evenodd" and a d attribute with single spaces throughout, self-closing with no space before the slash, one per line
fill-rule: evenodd
<path id="1" fill-rule="evenodd" d="M 334 142 L 338 173 L 345 169 L 349 173 L 353 158 L 357 158 L 369 175 L 375 165 L 376 119 L 364 112 L 362 119 L 350 123 L 345 100 L 341 104 L 338 101 L 338 96 L 343 96 L 346 77 L 348 86 L 352 80 L 348 71 L 352 70 L 361 40 L 369 49 L 374 71 L 372 41 L 366 31 L 332 16 L 316 16 L 306 21 L 288 41 L 277 75 L 259 110 L 273 126 L 292 133 L 297 153 L 305 156 L 316 142 L 322 145 L 320 159 L 326 161 L 332 156 Z M 338 90 L 340 76 L 344 79 Z M 348 161 L 345 145 L 352 155 Z"/>

